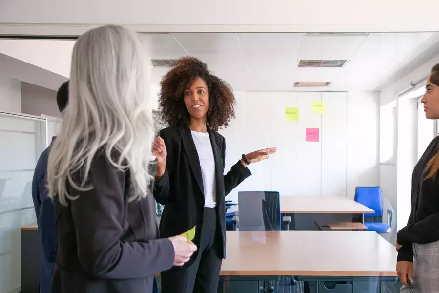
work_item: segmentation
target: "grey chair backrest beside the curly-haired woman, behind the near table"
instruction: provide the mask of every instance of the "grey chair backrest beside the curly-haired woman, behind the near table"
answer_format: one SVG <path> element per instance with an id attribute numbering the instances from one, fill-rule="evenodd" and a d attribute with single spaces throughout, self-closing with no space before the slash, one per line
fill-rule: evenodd
<path id="1" fill-rule="evenodd" d="M 279 192 L 238 192 L 240 231 L 280 231 Z"/>

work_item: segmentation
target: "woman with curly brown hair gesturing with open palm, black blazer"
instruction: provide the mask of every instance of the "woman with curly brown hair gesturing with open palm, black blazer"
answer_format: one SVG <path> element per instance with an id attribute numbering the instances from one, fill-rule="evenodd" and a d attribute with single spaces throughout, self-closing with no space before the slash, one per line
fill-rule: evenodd
<path id="1" fill-rule="evenodd" d="M 226 142 L 217 130 L 235 115 L 230 86 L 192 57 L 178 60 L 161 85 L 159 110 L 170 126 L 153 146 L 154 197 L 165 205 L 161 237 L 195 226 L 198 246 L 184 266 L 162 272 L 162 293 L 216 292 L 226 256 L 225 196 L 251 175 L 249 164 L 268 159 L 276 149 L 242 155 L 224 175 Z"/>

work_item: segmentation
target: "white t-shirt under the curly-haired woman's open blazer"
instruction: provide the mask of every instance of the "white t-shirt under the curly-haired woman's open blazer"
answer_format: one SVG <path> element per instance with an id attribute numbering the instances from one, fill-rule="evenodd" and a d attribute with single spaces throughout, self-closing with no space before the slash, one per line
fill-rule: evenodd
<path id="1" fill-rule="evenodd" d="M 191 131 L 198 158 L 200 159 L 201 175 L 203 177 L 204 206 L 214 208 L 216 206 L 215 188 L 215 159 L 209 133 Z"/>

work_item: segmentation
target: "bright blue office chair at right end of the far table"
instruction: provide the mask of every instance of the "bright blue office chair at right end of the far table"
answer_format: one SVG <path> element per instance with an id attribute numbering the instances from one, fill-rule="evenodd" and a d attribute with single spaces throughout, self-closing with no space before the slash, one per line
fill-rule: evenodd
<path id="1" fill-rule="evenodd" d="M 373 213 L 364 214 L 364 226 L 368 231 L 375 231 L 378 234 L 390 233 L 392 227 L 393 211 L 387 210 L 387 223 L 383 223 L 383 200 L 382 192 L 379 186 L 355 188 L 354 200 L 369 209 Z"/>

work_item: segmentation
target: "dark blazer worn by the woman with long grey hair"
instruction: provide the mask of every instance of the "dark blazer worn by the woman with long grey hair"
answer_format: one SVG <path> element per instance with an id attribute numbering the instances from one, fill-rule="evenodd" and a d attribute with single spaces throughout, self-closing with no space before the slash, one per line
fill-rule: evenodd
<path id="1" fill-rule="evenodd" d="M 153 275 L 172 267 L 174 247 L 157 239 L 151 195 L 128 202 L 129 172 L 98 154 L 89 191 L 62 206 L 55 200 L 58 251 L 53 293 L 151 293 Z"/>

